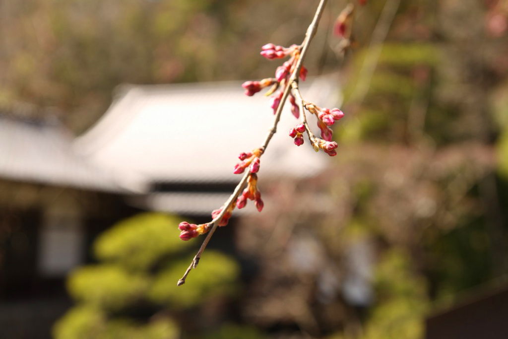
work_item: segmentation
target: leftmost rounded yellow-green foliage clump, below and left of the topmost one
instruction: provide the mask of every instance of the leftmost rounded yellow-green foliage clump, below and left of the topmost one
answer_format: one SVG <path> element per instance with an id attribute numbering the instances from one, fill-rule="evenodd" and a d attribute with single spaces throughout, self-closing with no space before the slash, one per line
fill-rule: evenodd
<path id="1" fill-rule="evenodd" d="M 148 288 L 147 276 L 131 274 L 116 265 L 85 266 L 67 282 L 74 298 L 105 310 L 118 310 L 140 299 Z"/>

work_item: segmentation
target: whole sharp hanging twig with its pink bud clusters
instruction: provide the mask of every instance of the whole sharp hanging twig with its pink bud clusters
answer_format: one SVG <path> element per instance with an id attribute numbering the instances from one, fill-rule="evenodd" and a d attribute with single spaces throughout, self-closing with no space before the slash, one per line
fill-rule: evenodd
<path id="1" fill-rule="evenodd" d="M 251 152 L 242 152 L 239 155 L 240 162 L 235 165 L 234 173 L 240 174 L 245 172 L 247 167 L 249 171 L 243 175 L 240 183 L 236 187 L 233 194 L 230 196 L 228 201 L 219 209 L 212 212 L 213 220 L 208 224 L 194 225 L 186 222 L 180 223 L 178 226 L 181 230 L 180 238 L 182 240 L 189 240 L 200 234 L 208 232 L 203 244 L 201 245 L 198 253 L 194 257 L 192 263 L 185 271 L 182 279 L 178 281 L 178 286 L 185 283 L 185 279 L 191 269 L 196 268 L 201 254 L 205 250 L 210 237 L 213 235 L 218 226 L 226 226 L 229 219 L 232 216 L 235 207 L 245 207 L 247 200 L 254 201 L 256 208 L 261 212 L 264 207 L 263 200 L 261 199 L 261 193 L 258 190 L 258 172 L 260 169 L 260 158 L 265 152 L 268 143 L 270 142 L 273 134 L 276 132 L 277 124 L 280 120 L 280 114 L 284 102 L 289 98 L 291 103 L 291 111 L 296 118 L 302 116 L 302 123 L 297 125 L 290 131 L 290 136 L 294 138 L 294 143 L 297 146 L 303 144 L 303 133 L 307 132 L 314 150 L 318 151 L 322 149 L 328 155 L 335 156 L 337 152 L 337 143 L 331 141 L 332 130 L 329 126 L 333 125 L 335 120 L 339 120 L 343 113 L 337 109 L 320 108 L 312 103 L 304 102 L 298 91 L 298 81 L 301 79 L 305 80 L 307 76 L 307 69 L 303 66 L 303 60 L 305 54 L 309 50 L 310 42 L 314 37 L 317 25 L 323 15 L 323 11 L 327 0 L 320 0 L 319 6 L 314 14 L 312 23 L 307 29 L 305 39 L 301 45 L 291 45 L 290 47 L 282 47 L 272 43 L 264 45 L 261 49 L 261 55 L 267 59 L 280 59 L 289 57 L 287 61 L 284 61 L 281 66 L 275 70 L 275 77 L 266 78 L 260 81 L 246 81 L 242 84 L 245 89 L 245 95 L 253 96 L 263 88 L 270 87 L 266 96 L 272 96 L 270 106 L 275 114 L 273 127 L 270 129 L 263 146 L 252 150 Z M 294 93 L 291 93 L 291 89 L 296 89 Z M 312 132 L 308 128 L 305 110 L 315 114 L 318 118 L 318 126 L 322 130 L 323 139 L 318 139 L 313 136 Z M 241 193 L 240 193 L 241 192 Z"/>

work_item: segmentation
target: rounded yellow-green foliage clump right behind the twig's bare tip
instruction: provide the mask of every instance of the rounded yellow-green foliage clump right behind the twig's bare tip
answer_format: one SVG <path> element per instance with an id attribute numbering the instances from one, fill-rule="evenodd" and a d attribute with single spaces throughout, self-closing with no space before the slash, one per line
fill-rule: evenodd
<path id="1" fill-rule="evenodd" d="M 201 258 L 199 269 L 192 272 L 192 279 L 185 283 L 186 288 L 173 287 L 192 258 L 169 266 L 155 277 L 149 291 L 152 301 L 164 302 L 173 307 L 187 307 L 196 305 L 206 298 L 235 292 L 235 281 L 239 274 L 238 264 L 224 254 L 210 250 Z"/>

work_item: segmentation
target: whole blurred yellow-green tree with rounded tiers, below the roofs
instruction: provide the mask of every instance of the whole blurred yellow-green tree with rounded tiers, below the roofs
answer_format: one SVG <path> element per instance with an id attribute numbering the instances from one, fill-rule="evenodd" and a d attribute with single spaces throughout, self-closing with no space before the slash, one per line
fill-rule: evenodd
<path id="1" fill-rule="evenodd" d="M 203 257 L 206 265 L 196 270 L 189 287 L 177 289 L 175 276 L 188 263 L 185 250 L 192 248 L 178 238 L 180 221 L 144 213 L 104 232 L 94 243 L 101 263 L 69 277 L 69 293 L 78 304 L 54 326 L 55 338 L 176 338 L 178 312 L 194 309 L 192 317 L 199 317 L 197 309 L 208 300 L 233 296 L 238 264 L 213 251 Z M 185 325 L 200 330 L 194 321 Z"/>

